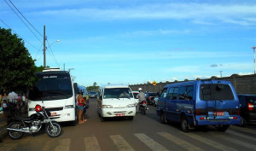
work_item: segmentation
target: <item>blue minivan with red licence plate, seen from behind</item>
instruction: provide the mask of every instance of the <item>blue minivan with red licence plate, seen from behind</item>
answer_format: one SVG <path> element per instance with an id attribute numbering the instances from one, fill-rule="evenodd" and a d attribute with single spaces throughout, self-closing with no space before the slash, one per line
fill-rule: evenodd
<path id="1" fill-rule="evenodd" d="M 156 113 L 161 123 L 178 122 L 182 131 L 214 125 L 226 131 L 240 125 L 240 104 L 229 81 L 196 80 L 168 84 L 160 94 Z"/>

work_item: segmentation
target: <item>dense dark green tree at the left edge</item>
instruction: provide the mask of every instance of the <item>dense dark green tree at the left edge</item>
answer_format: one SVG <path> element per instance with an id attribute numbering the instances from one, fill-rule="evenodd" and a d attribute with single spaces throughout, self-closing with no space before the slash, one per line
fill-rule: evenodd
<path id="1" fill-rule="evenodd" d="M 24 41 L 0 27 L 0 89 L 26 91 L 35 82 L 35 71 Z"/>

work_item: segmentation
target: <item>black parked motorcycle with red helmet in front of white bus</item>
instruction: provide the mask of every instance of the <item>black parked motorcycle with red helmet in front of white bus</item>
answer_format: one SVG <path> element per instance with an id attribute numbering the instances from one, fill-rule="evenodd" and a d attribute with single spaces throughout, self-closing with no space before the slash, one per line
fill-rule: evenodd
<path id="1" fill-rule="evenodd" d="M 49 119 L 50 112 L 44 107 L 36 105 L 36 113 L 30 117 L 9 117 L 12 121 L 8 130 L 8 135 L 11 139 L 20 139 L 25 133 L 35 134 L 41 130 L 42 125 L 45 124 L 45 130 L 50 137 L 61 136 L 61 125 Z"/>

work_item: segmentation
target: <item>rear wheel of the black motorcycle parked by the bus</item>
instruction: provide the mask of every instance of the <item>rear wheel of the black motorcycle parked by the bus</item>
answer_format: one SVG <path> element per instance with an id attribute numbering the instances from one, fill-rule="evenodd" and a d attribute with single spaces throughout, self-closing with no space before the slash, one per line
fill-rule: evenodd
<path id="1" fill-rule="evenodd" d="M 22 129 L 22 124 L 20 122 L 14 122 L 9 125 L 9 128 L 20 130 Z M 24 132 L 9 130 L 8 135 L 11 139 L 16 140 L 20 139 L 24 135 Z"/>

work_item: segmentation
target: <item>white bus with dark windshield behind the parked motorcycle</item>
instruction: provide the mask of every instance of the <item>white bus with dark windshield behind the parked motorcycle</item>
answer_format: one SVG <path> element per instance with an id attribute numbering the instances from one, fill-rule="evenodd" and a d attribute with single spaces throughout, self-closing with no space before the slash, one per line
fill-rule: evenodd
<path id="1" fill-rule="evenodd" d="M 67 71 L 49 68 L 36 73 L 38 82 L 28 93 L 28 116 L 35 112 L 37 104 L 50 112 L 50 119 L 57 122 L 78 122 L 73 80 Z"/>

